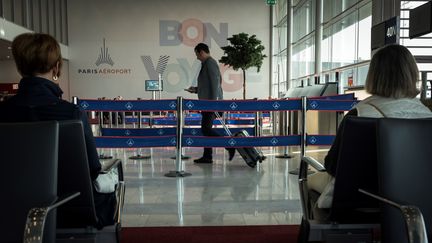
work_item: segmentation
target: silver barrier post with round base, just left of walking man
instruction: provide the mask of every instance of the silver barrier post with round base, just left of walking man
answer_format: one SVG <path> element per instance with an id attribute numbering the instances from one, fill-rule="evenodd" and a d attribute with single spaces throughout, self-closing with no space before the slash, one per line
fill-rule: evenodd
<path id="1" fill-rule="evenodd" d="M 183 137 L 183 97 L 177 97 L 177 129 L 176 129 L 176 170 L 165 174 L 167 177 L 186 177 L 192 175 L 184 171 L 182 160 L 182 137 Z"/>

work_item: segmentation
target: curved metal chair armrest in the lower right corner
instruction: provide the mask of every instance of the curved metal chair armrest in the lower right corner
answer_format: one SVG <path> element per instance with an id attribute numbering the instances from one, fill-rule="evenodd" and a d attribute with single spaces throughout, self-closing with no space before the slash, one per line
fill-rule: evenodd
<path id="1" fill-rule="evenodd" d="M 428 242 L 426 225 L 423 219 L 423 215 L 418 207 L 412 205 L 401 205 L 387 198 L 365 191 L 363 189 L 359 189 L 359 192 L 399 209 L 404 217 L 410 243 Z"/>

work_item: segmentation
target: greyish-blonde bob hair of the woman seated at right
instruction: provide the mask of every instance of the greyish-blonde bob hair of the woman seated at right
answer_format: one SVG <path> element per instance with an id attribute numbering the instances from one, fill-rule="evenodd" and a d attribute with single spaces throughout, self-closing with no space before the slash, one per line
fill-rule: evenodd
<path id="1" fill-rule="evenodd" d="M 406 47 L 387 45 L 372 57 L 365 88 L 372 95 L 414 98 L 419 93 L 418 72 L 416 61 Z"/>

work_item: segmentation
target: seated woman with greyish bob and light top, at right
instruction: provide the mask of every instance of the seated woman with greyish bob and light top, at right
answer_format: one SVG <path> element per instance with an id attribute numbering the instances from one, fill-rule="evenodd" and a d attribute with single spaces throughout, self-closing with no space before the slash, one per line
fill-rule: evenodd
<path id="1" fill-rule="evenodd" d="M 347 116 L 431 118 L 432 112 L 416 98 L 418 73 L 414 57 L 404 46 L 388 45 L 379 49 L 372 57 L 366 77 L 365 89 L 372 96 L 359 102 Z M 309 188 L 321 193 L 319 208 L 329 208 L 332 204 L 341 138 L 338 135 L 324 160 L 326 172 L 308 177 Z"/>

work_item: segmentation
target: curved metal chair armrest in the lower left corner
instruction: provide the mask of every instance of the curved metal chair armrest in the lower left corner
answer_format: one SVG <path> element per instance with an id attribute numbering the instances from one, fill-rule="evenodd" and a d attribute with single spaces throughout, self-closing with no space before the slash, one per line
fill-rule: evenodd
<path id="1" fill-rule="evenodd" d="M 78 197 L 80 194 L 80 192 L 76 192 L 65 198 L 56 200 L 53 204 L 47 207 L 31 208 L 27 214 L 23 242 L 42 243 L 43 231 L 48 213 L 58 206 Z"/>

